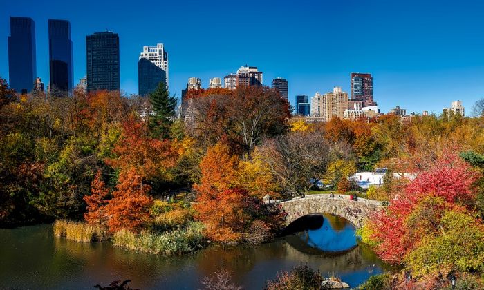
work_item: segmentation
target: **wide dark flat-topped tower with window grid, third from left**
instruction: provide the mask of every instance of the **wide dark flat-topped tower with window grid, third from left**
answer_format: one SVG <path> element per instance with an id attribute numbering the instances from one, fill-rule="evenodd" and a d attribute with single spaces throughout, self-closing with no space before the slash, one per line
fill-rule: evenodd
<path id="1" fill-rule="evenodd" d="M 86 36 L 87 91 L 120 89 L 120 39 L 113 32 Z"/>

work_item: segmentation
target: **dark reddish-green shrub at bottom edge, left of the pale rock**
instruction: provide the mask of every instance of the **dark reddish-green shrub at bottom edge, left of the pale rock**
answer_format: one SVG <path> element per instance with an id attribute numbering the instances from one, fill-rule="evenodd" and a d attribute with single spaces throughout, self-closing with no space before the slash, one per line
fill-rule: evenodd
<path id="1" fill-rule="evenodd" d="M 277 278 L 268 280 L 267 290 L 319 290 L 324 278 L 319 271 L 315 272 L 307 264 L 300 264 L 290 272 L 278 273 Z"/>

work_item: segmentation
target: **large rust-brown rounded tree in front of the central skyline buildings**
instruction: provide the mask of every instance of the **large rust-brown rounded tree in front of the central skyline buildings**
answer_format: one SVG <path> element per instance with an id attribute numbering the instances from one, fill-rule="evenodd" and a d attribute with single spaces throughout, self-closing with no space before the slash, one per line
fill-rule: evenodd
<path id="1" fill-rule="evenodd" d="M 187 129 L 205 146 L 227 135 L 231 146 L 250 154 L 262 139 L 288 130 L 290 105 L 276 90 L 241 86 L 196 92 L 200 95 L 190 100 Z"/>

